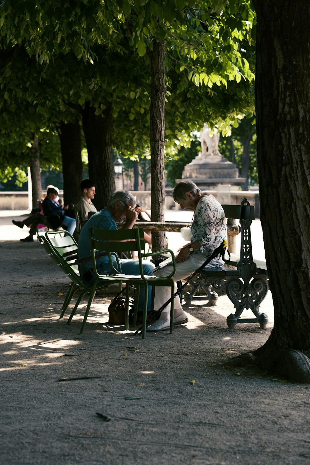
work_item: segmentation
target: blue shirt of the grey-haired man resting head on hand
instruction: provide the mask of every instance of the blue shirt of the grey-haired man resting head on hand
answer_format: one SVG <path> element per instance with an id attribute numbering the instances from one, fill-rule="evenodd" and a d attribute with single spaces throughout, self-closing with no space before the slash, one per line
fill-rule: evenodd
<path id="1" fill-rule="evenodd" d="M 100 212 L 96 213 L 95 215 L 92 215 L 92 217 L 85 223 L 83 226 L 81 232 L 79 233 L 79 244 L 78 244 L 78 259 L 82 259 L 84 257 L 90 257 L 90 244 L 89 244 L 89 235 L 88 235 L 88 228 L 93 227 L 93 228 L 98 228 L 98 229 L 115 229 L 117 230 L 116 223 L 114 221 L 114 218 L 112 217 L 112 214 L 110 210 L 108 210 L 106 207 L 100 210 Z M 100 252 L 105 252 L 104 250 L 101 250 Z M 115 261 L 114 255 L 112 255 L 112 260 Z M 97 266 L 100 266 L 100 264 L 109 262 L 108 256 L 105 257 L 100 257 L 99 259 L 96 260 Z M 81 277 L 84 276 L 84 274 L 92 269 L 92 260 L 79 263 L 79 273 Z"/>

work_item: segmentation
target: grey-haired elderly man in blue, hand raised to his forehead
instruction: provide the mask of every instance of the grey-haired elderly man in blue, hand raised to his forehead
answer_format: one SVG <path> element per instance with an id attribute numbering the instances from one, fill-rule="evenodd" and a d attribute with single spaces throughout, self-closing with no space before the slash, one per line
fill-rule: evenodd
<path id="1" fill-rule="evenodd" d="M 117 230 L 116 223 L 121 223 L 125 221 L 123 229 L 132 229 L 135 224 L 138 213 L 135 211 L 135 206 L 137 205 L 136 199 L 133 197 L 132 193 L 128 191 L 117 191 L 114 192 L 109 200 L 108 205 L 100 210 L 98 213 L 93 215 L 88 221 L 86 226 L 84 226 L 79 235 L 79 244 L 78 244 L 78 259 L 89 257 L 89 236 L 88 228 L 98 228 L 98 229 L 112 229 Z M 116 261 L 115 257 L 112 256 L 112 260 Z M 138 259 L 120 259 L 120 266 L 124 274 L 137 274 L 139 275 L 139 260 Z M 115 263 L 117 268 L 117 264 Z M 152 270 L 155 266 L 148 260 L 143 262 L 143 272 L 145 275 L 152 275 Z M 112 272 L 109 259 L 107 256 L 100 257 L 97 259 L 97 269 L 100 274 L 105 272 Z M 97 277 L 92 271 L 92 261 L 86 261 L 79 263 L 79 272 L 81 277 L 89 284 L 93 284 Z M 141 289 L 138 312 L 143 312 L 144 307 L 144 289 Z M 148 301 L 148 311 L 151 311 L 152 307 L 152 292 L 149 292 L 149 301 Z M 141 314 L 138 316 L 142 316 Z"/>

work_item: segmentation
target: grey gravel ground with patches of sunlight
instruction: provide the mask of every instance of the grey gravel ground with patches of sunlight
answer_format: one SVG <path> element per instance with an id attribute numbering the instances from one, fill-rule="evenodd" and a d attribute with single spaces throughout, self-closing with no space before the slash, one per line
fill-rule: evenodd
<path id="1" fill-rule="evenodd" d="M 310 463 L 309 386 L 229 362 L 268 339 L 270 292 L 265 330 L 228 330 L 221 296 L 184 306 L 190 321 L 173 335 L 142 340 L 108 325 L 109 289 L 79 335 L 86 301 L 71 325 L 69 311 L 59 320 L 69 279 L 38 241 L 19 241 L 22 213 L 0 212 L 1 464 Z"/>

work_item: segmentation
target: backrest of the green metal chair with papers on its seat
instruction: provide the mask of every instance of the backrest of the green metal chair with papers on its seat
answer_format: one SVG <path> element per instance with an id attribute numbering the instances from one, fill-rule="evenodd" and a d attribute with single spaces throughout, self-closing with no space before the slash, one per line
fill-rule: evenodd
<path id="1" fill-rule="evenodd" d="M 143 263 L 142 259 L 145 254 L 141 251 L 145 250 L 145 240 L 143 240 L 144 231 L 142 228 L 137 229 L 119 229 L 119 230 L 109 230 L 109 229 L 97 229 L 97 228 L 88 228 L 89 241 L 91 247 L 92 255 L 92 265 L 94 273 L 101 277 L 97 271 L 96 256 L 98 252 L 107 252 L 109 257 L 110 267 L 116 274 L 121 272 L 119 265 L 119 260 L 116 257 L 116 262 L 118 264 L 118 271 L 115 266 L 113 266 L 112 254 L 116 255 L 121 252 L 133 252 L 138 251 L 139 258 L 139 272 L 142 278 L 144 278 L 143 273 Z M 118 242 L 121 241 L 121 242 Z M 114 253 L 113 253 L 114 252 Z"/>

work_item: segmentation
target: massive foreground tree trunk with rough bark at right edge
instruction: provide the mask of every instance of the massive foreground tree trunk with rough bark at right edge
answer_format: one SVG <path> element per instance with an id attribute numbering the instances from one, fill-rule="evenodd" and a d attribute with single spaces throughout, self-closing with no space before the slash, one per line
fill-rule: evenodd
<path id="1" fill-rule="evenodd" d="M 257 361 L 310 382 L 310 11 L 253 0 L 261 222 L 275 324 Z"/>

